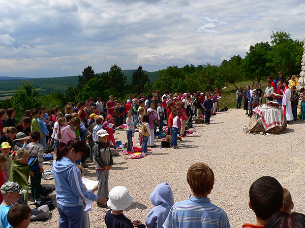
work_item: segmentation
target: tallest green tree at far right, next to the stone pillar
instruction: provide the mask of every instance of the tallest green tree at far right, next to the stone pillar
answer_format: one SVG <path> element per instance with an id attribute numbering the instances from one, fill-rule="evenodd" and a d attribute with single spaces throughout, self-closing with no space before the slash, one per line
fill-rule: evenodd
<path id="1" fill-rule="evenodd" d="M 284 31 L 272 31 L 270 38 L 272 46 L 269 52 L 268 66 L 272 67 L 273 73 L 282 70 L 287 72 L 289 77 L 291 74 L 299 73 L 303 52 L 302 43 L 292 40 L 290 33 Z"/>

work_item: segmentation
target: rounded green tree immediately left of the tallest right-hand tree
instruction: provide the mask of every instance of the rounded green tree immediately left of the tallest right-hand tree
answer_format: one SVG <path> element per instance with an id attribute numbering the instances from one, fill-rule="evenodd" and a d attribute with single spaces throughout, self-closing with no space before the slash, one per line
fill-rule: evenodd
<path id="1" fill-rule="evenodd" d="M 257 43 L 250 46 L 245 59 L 242 60 L 241 69 L 246 80 L 253 80 L 256 77 L 258 83 L 262 77 L 270 74 L 269 53 L 271 47 L 268 42 Z"/>

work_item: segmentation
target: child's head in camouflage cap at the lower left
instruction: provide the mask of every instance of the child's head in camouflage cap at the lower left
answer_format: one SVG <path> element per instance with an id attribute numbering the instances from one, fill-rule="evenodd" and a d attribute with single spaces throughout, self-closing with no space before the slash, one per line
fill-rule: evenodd
<path id="1" fill-rule="evenodd" d="M 20 198 L 20 194 L 25 194 L 26 191 L 20 187 L 20 185 L 13 181 L 4 183 L 1 188 L 1 194 L 3 195 L 4 203 L 15 204 Z"/>

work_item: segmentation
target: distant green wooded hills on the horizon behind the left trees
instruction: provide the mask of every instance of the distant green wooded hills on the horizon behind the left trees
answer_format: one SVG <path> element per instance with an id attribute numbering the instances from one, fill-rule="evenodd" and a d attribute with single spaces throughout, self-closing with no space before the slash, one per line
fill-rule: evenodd
<path id="1" fill-rule="evenodd" d="M 122 70 L 127 76 L 127 83 L 131 83 L 131 77 L 136 69 Z M 143 70 L 148 74 L 150 83 L 153 83 L 158 78 L 158 71 L 148 72 Z M 101 73 L 99 73 L 101 74 Z M 34 83 L 35 87 L 38 89 L 39 94 L 47 95 L 51 92 L 65 93 L 69 86 L 77 86 L 78 76 L 67 76 L 67 77 L 56 77 L 56 78 L 14 78 L 14 77 L 0 77 L 0 101 L 11 98 L 15 90 L 22 86 L 23 81 L 29 81 Z"/>

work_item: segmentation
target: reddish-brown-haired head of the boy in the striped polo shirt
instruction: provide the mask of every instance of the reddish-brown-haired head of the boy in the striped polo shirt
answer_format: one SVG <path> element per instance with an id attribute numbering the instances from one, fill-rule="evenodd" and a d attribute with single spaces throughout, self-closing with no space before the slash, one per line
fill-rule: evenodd
<path id="1" fill-rule="evenodd" d="M 191 165 L 187 174 L 188 183 L 194 195 L 208 195 L 215 182 L 213 171 L 205 163 Z"/>

